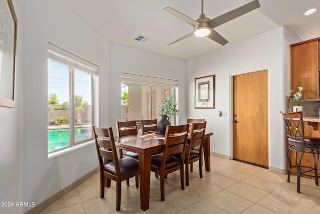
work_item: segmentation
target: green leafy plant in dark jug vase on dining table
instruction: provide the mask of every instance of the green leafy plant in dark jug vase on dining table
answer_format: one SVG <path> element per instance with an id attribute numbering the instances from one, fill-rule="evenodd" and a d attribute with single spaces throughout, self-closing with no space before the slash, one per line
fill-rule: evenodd
<path id="1" fill-rule="evenodd" d="M 158 106 L 158 116 L 160 115 L 161 119 L 157 122 L 156 127 L 160 134 L 165 134 L 166 126 L 171 125 L 170 118 L 176 118 L 181 113 L 176 109 L 177 103 L 177 101 L 174 102 L 174 96 L 171 95 L 169 98 L 162 100 L 161 105 Z"/>

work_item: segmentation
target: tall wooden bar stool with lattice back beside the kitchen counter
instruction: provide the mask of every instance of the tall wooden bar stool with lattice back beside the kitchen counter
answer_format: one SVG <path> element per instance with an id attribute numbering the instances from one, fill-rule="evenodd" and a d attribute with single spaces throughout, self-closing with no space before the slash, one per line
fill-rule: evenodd
<path id="1" fill-rule="evenodd" d="M 308 176 L 315 178 L 315 185 L 318 185 L 318 170 L 319 154 L 320 154 L 320 138 L 313 136 L 304 136 L 302 112 L 283 113 L 285 132 L 288 141 L 288 177 L 287 182 L 290 182 L 290 172 L 297 174 L 296 191 L 300 192 L 300 176 Z M 294 161 L 291 163 L 291 152 L 294 152 Z M 304 153 L 310 153 L 313 156 L 313 167 L 301 165 L 301 159 Z"/>

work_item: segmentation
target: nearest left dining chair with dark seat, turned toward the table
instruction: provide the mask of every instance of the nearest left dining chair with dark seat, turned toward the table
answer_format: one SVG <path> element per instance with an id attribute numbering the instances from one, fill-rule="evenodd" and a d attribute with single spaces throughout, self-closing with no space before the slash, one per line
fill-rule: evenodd
<path id="1" fill-rule="evenodd" d="M 100 197 L 104 197 L 104 185 L 109 187 L 111 180 L 114 180 L 116 182 L 116 210 L 118 211 L 121 203 L 121 181 L 135 176 L 135 187 L 139 187 L 138 161 L 129 157 L 117 157 L 111 127 L 92 126 L 92 129 L 100 168 Z"/>

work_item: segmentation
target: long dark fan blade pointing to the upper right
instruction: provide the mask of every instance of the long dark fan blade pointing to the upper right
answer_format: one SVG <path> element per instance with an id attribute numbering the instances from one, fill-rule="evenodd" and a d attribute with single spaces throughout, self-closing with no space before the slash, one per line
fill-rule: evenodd
<path id="1" fill-rule="evenodd" d="M 253 2 L 246 4 L 246 5 L 243 5 L 237 9 L 229 11 L 221 16 L 218 16 L 214 19 L 211 19 L 210 21 L 207 22 L 207 24 L 209 24 L 209 26 L 211 28 L 216 28 L 216 27 L 218 27 L 228 21 L 231 21 L 231 20 L 233 20 L 239 16 L 242 16 L 243 14 L 246 14 L 250 11 L 253 11 L 259 7 L 260 7 L 259 1 L 255 0 Z"/>

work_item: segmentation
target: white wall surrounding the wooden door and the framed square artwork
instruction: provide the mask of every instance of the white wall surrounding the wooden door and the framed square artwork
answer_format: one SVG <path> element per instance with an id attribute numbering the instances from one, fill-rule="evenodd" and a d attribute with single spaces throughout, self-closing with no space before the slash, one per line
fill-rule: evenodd
<path id="1" fill-rule="evenodd" d="M 187 62 L 187 85 L 194 85 L 194 78 L 215 74 L 215 109 L 194 109 L 194 87 L 187 89 L 187 116 L 207 120 L 207 130 L 213 132 L 211 151 L 232 155 L 230 76 L 268 69 L 269 165 L 285 169 L 284 131 L 279 111 L 285 110 L 284 91 L 289 90 L 285 84 L 289 80 L 284 79 L 290 73 L 287 48 L 296 39 L 284 28 L 278 28 Z M 227 117 L 219 117 L 218 111 L 226 111 Z"/>

